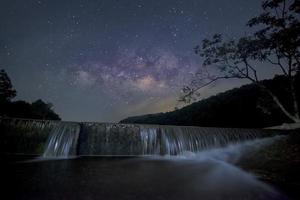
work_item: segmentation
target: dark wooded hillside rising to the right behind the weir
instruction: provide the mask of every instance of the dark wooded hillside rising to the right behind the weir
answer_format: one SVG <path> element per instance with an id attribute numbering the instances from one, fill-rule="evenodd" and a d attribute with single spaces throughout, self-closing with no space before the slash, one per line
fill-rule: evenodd
<path id="1" fill-rule="evenodd" d="M 300 76 L 296 78 L 300 85 Z M 272 80 L 265 80 L 263 84 L 272 90 L 284 105 L 290 105 L 287 79 L 276 76 Z M 298 87 L 299 90 L 299 87 Z M 297 92 L 297 94 L 300 94 Z M 300 97 L 297 96 L 298 103 Z M 262 128 L 291 122 L 255 84 L 244 85 L 210 98 L 198 101 L 181 109 L 142 116 L 129 117 L 121 123 L 188 125 L 207 127 L 240 127 Z"/>

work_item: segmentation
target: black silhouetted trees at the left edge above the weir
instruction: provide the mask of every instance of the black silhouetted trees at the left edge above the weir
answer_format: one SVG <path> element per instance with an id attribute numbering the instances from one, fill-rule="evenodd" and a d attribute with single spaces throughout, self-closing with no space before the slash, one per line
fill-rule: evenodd
<path id="1" fill-rule="evenodd" d="M 51 103 L 38 99 L 32 103 L 12 101 L 17 92 L 4 70 L 0 70 L 0 117 L 60 120 Z"/>

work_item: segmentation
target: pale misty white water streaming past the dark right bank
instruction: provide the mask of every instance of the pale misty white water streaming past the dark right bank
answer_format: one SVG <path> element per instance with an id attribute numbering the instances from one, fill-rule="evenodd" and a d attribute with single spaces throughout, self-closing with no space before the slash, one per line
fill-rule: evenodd
<path id="1" fill-rule="evenodd" d="M 205 199 L 288 199 L 257 177 L 234 164 L 247 153 L 271 145 L 285 136 L 255 139 L 228 145 L 223 148 L 193 153 L 182 152 L 177 156 L 150 156 L 147 159 L 168 160 L 181 165 L 186 175 L 193 174 L 191 183 Z"/>

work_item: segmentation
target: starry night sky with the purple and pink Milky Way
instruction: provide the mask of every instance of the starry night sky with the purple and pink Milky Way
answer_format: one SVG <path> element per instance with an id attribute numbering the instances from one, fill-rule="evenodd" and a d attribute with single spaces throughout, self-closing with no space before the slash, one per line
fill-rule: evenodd
<path id="1" fill-rule="evenodd" d="M 247 34 L 261 0 L 1 0 L 0 68 L 17 100 L 63 120 L 117 122 L 178 106 L 205 37 Z M 240 85 L 216 83 L 207 97 Z"/>

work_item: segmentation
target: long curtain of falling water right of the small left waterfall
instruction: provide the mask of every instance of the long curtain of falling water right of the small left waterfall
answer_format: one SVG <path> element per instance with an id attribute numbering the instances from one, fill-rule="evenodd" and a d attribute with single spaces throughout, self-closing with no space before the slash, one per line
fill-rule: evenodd
<path id="1" fill-rule="evenodd" d="M 82 155 L 180 155 L 272 136 L 259 129 L 187 126 L 82 124 Z"/>

